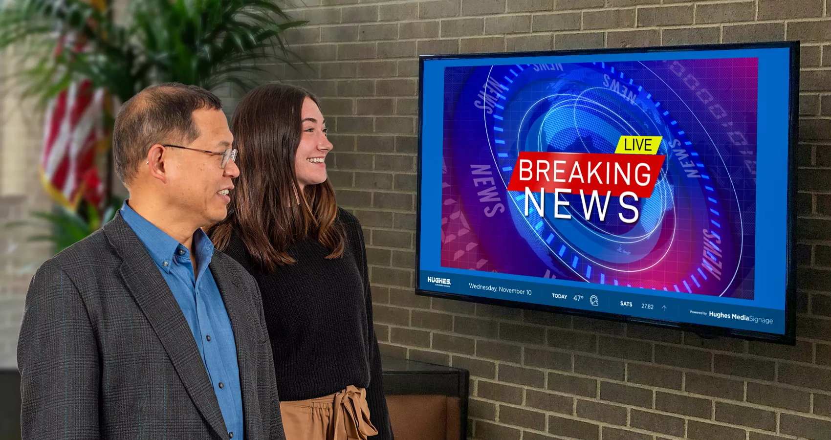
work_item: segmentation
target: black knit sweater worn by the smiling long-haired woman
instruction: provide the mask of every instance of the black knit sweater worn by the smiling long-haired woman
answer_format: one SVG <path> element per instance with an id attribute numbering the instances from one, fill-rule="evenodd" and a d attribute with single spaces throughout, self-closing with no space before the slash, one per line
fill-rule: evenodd
<path id="1" fill-rule="evenodd" d="M 307 238 L 288 250 L 295 264 L 267 274 L 253 264 L 235 231 L 224 253 L 259 284 L 280 400 L 319 398 L 348 385 L 366 388 L 378 429 L 371 438 L 392 440 L 361 224 L 340 208 L 337 221 L 346 232 L 342 258 L 325 259 L 330 251 Z"/>

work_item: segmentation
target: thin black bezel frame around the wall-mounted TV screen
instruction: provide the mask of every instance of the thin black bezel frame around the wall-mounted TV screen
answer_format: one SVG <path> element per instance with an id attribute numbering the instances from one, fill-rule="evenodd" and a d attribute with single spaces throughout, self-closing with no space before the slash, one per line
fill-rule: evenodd
<path id="1" fill-rule="evenodd" d="M 736 49 L 762 49 L 762 48 L 789 48 L 790 49 L 790 90 L 788 109 L 788 200 L 786 200 L 787 220 L 785 225 L 785 326 L 784 334 L 771 334 L 765 332 L 730 329 L 703 324 L 690 324 L 681 321 L 666 321 L 660 319 L 646 319 L 626 314 L 614 314 L 609 312 L 594 312 L 591 310 L 571 309 L 553 305 L 531 304 L 509 299 L 490 299 L 475 295 L 451 294 L 420 288 L 420 246 L 421 246 L 421 145 L 423 126 L 423 100 L 424 100 L 424 62 L 436 59 L 475 59 L 475 58 L 507 58 L 507 57 L 553 57 L 563 55 L 609 55 L 615 53 L 642 53 L 642 52 L 687 52 L 687 51 L 714 51 L 714 50 L 736 50 Z M 419 57 L 419 95 L 418 95 L 418 170 L 416 179 L 416 294 L 435 298 L 456 299 L 471 303 L 495 304 L 516 309 L 540 310 L 559 314 L 572 314 L 587 316 L 590 318 L 607 319 L 612 321 L 650 324 L 658 327 L 678 329 L 681 331 L 698 334 L 705 338 L 726 336 L 730 338 L 749 339 L 765 341 L 775 344 L 796 344 L 796 264 L 794 264 L 794 226 L 796 225 L 796 146 L 799 130 L 799 42 L 748 42 L 748 43 L 727 43 L 727 44 L 703 44 L 703 45 L 679 45 L 679 46 L 652 46 L 652 47 L 621 47 L 621 48 L 597 48 L 597 49 L 573 49 L 553 50 L 535 52 L 491 52 L 491 53 L 468 53 L 468 54 L 441 54 L 421 55 Z M 579 289 L 579 288 L 574 288 Z"/>

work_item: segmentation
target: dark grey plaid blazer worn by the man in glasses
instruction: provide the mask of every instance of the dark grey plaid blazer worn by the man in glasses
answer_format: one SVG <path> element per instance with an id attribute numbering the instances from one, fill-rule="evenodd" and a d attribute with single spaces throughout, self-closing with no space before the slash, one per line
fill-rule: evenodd
<path id="1" fill-rule="evenodd" d="M 285 440 L 254 279 L 209 265 L 237 344 L 247 440 Z M 116 215 L 37 270 L 17 346 L 22 438 L 228 439 L 193 334 L 138 236 Z"/>

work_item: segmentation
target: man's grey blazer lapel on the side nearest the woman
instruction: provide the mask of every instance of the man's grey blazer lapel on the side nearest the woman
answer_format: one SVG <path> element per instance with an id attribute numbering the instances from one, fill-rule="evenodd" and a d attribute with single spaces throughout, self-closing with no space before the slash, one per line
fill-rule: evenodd
<path id="1" fill-rule="evenodd" d="M 239 367 L 239 385 L 242 388 L 243 397 L 243 418 L 246 433 L 253 433 L 251 418 L 244 417 L 244 414 L 258 412 L 258 408 L 251 408 L 252 398 L 256 401 L 257 383 L 255 373 L 257 369 L 256 353 L 257 344 L 260 344 L 260 334 L 252 330 L 251 322 L 259 319 L 258 310 L 253 309 L 249 304 L 248 292 L 243 288 L 243 282 L 238 279 L 234 270 L 229 270 L 229 264 L 224 259 L 230 258 L 219 251 L 214 251 L 209 269 L 214 275 L 219 294 L 231 320 L 231 329 L 234 330 L 234 342 L 237 344 L 237 364 Z M 256 411 L 254 411 L 256 410 Z"/>

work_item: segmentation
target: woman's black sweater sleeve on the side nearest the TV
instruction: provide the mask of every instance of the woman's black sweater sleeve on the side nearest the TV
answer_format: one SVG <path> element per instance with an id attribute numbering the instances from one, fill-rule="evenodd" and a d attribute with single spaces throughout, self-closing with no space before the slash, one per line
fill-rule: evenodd
<path id="1" fill-rule="evenodd" d="M 372 436 L 371 440 L 393 440 L 392 428 L 390 426 L 390 414 L 386 408 L 386 397 L 384 395 L 383 374 L 381 372 L 381 353 L 378 349 L 378 339 L 375 334 L 375 326 L 372 323 L 372 294 L 369 284 L 369 269 L 366 264 L 366 245 L 364 244 L 361 224 L 354 220 L 353 228 L 356 237 L 355 255 L 361 260 L 364 279 L 364 298 L 366 298 L 366 326 L 367 326 L 367 349 L 370 368 L 370 383 L 366 387 L 366 403 L 369 406 L 370 420 L 378 430 L 378 435 Z"/>

